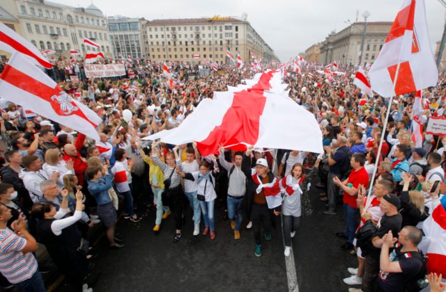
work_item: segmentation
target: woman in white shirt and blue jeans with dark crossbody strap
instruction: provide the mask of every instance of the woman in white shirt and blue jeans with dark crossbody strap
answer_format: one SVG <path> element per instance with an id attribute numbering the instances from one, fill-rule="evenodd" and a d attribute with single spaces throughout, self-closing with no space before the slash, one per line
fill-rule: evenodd
<path id="1" fill-rule="evenodd" d="M 196 172 L 180 172 L 178 168 L 176 172 L 191 181 L 197 181 L 197 199 L 200 201 L 201 211 L 203 212 L 203 219 L 205 228 L 203 235 L 209 233 L 210 239 L 215 239 L 215 221 L 214 221 L 214 205 L 217 194 L 215 193 L 215 175 L 218 172 L 218 166 L 214 160 L 214 169 L 210 170 L 210 163 L 208 161 L 201 161 L 200 170 Z"/>

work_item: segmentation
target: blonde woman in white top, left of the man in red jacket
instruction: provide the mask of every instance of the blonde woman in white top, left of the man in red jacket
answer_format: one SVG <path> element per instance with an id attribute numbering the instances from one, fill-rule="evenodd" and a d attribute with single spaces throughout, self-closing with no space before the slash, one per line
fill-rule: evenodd
<path id="1" fill-rule="evenodd" d="M 51 177 L 54 172 L 59 173 L 59 177 L 56 181 L 59 188 L 63 188 L 63 177 L 65 175 L 74 175 L 75 168 L 74 162 L 69 160 L 65 162 L 63 160 L 63 154 L 59 148 L 49 148 L 45 152 L 45 163 L 42 165 L 43 171 L 46 172 L 48 177 Z"/>

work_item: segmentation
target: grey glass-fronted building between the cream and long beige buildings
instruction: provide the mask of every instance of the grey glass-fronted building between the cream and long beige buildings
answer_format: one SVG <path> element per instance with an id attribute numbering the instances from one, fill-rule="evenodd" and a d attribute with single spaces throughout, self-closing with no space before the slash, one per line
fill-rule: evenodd
<path id="1" fill-rule="evenodd" d="M 109 39 L 117 58 L 146 58 L 148 55 L 143 30 L 147 20 L 122 16 L 108 17 Z"/>

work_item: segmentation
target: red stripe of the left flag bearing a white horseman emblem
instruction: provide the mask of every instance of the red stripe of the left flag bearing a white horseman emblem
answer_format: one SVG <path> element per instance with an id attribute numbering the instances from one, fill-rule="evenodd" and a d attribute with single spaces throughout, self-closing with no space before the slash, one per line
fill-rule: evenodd
<path id="1" fill-rule="evenodd" d="M 31 93 L 31 95 L 35 95 L 36 97 L 40 97 L 46 102 L 49 102 L 57 115 L 66 116 L 65 113 L 61 112 L 61 108 L 57 101 L 51 99 L 54 95 L 59 96 L 59 92 L 63 91 L 59 86 L 56 85 L 56 88 L 47 86 L 45 83 L 41 83 L 40 81 L 33 79 L 33 77 L 20 72 L 10 65 L 5 66 L 3 72 L 0 75 L 0 79 L 3 79 L 4 81 L 10 83 L 10 85 L 12 86 Z M 75 106 L 74 102 L 71 101 L 71 103 Z M 82 113 L 80 108 L 77 111 L 72 111 L 72 113 L 68 115 L 77 115 L 82 119 L 88 121 L 90 124 L 93 125 L 93 127 L 98 127 L 97 124 L 91 122 L 91 120 L 89 120 L 89 118 L 86 117 L 84 113 Z"/>

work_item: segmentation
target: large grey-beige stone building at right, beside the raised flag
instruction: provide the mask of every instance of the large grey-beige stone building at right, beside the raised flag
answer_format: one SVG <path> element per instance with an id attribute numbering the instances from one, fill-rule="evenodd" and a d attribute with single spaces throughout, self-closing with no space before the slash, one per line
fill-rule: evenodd
<path id="1" fill-rule="evenodd" d="M 355 22 L 339 33 L 332 32 L 321 43 L 321 63 L 339 61 L 341 64 L 355 65 L 360 59 L 364 22 Z M 368 22 L 361 51 L 362 63 L 374 63 L 385 38 L 392 27 L 392 22 Z"/>

